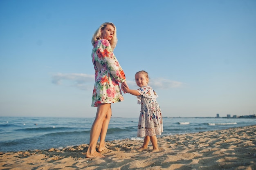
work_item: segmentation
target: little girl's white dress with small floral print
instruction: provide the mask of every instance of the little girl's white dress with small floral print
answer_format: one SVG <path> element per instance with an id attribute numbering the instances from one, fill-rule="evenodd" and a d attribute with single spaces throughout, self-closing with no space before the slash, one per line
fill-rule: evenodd
<path id="1" fill-rule="evenodd" d="M 138 124 L 138 137 L 161 135 L 163 132 L 162 112 L 157 103 L 157 93 L 150 86 L 137 90 L 138 104 L 141 104 Z"/>

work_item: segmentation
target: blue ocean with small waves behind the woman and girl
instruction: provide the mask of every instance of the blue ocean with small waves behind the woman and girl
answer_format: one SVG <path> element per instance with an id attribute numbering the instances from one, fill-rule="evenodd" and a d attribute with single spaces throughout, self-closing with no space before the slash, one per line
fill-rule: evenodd
<path id="1" fill-rule="evenodd" d="M 94 118 L 0 117 L 0 151 L 47 150 L 88 144 Z M 106 141 L 143 140 L 137 118 L 112 117 Z M 255 125 L 255 118 L 163 118 L 161 136 Z M 158 137 L 158 138 L 159 138 Z"/>

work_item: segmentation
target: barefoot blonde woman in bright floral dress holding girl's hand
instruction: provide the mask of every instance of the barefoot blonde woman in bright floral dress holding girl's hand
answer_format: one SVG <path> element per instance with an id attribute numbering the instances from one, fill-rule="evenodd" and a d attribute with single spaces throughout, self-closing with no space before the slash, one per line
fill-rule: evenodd
<path id="1" fill-rule="evenodd" d="M 92 94 L 92 106 L 97 107 L 95 120 L 90 131 L 90 144 L 86 157 L 104 157 L 99 152 L 106 149 L 105 137 L 112 115 L 111 103 L 124 100 L 119 83 L 123 90 L 126 77 L 119 65 L 113 50 L 117 44 L 117 29 L 113 23 L 101 24 L 92 37 L 92 63 L 95 69 L 95 84 Z M 100 137 L 98 151 L 96 144 Z"/>

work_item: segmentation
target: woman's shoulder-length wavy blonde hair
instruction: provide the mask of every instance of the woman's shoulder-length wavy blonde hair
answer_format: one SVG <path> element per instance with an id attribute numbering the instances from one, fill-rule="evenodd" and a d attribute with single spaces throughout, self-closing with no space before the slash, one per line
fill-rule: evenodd
<path id="1" fill-rule="evenodd" d="M 113 26 L 114 30 L 115 30 L 112 39 L 109 41 L 110 46 L 111 46 L 112 50 L 114 51 L 114 49 L 117 45 L 117 28 L 112 22 L 104 22 L 103 24 L 101 24 L 101 26 L 99 26 L 99 28 L 95 31 L 94 35 L 92 36 L 92 46 L 94 46 L 95 42 L 100 39 L 101 30 L 105 29 L 107 25 Z"/>

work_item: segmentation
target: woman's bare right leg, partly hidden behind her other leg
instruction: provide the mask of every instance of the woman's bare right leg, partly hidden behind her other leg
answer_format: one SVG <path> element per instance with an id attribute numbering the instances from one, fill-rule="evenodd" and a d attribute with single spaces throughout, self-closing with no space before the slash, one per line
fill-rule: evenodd
<path id="1" fill-rule="evenodd" d="M 105 120 L 103 121 L 102 128 L 101 128 L 100 141 L 99 141 L 99 148 L 98 148 L 98 151 L 99 151 L 99 152 L 101 152 L 102 150 L 106 149 L 106 146 L 105 146 L 105 137 L 106 137 L 106 135 L 107 135 L 108 124 L 109 124 L 111 115 L 112 115 L 112 110 L 111 110 L 111 106 L 110 106 L 110 108 L 108 109 L 108 113 L 107 113 L 107 115 L 106 115 L 106 117 L 105 117 Z"/>

